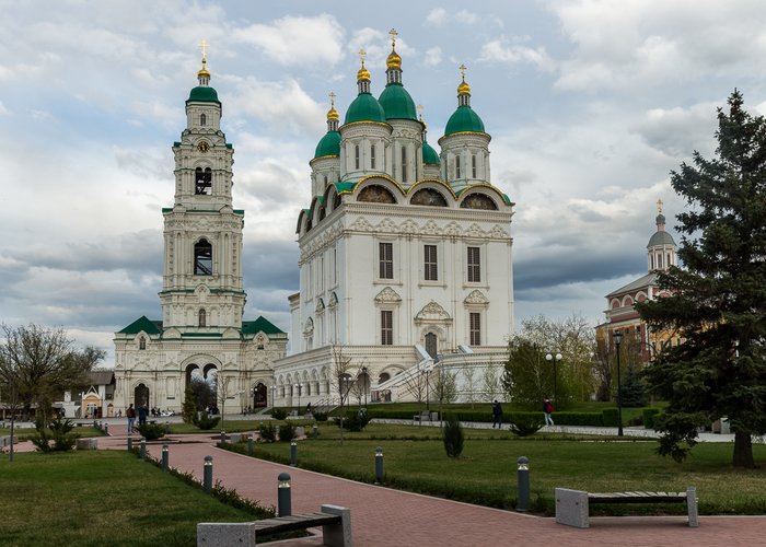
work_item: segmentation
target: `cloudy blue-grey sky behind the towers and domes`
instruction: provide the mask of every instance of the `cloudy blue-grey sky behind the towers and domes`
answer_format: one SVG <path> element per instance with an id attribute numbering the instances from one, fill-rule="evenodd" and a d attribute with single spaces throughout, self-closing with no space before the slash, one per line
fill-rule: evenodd
<path id="1" fill-rule="evenodd" d="M 384 5 L 385 9 L 381 9 Z M 467 9 L 465 7 L 468 7 Z M 327 94 L 345 113 L 357 51 L 383 90 L 388 30 L 437 148 L 457 67 L 491 135 L 492 182 L 517 203 L 517 321 L 603 318 L 604 295 L 646 272 L 669 172 L 715 149 L 739 88 L 766 112 L 761 0 L 0 0 L 0 322 L 63 326 L 109 351 L 160 318 L 161 208 L 206 38 L 245 209 L 245 318 L 289 328 L 295 219 Z M 382 14 L 383 13 L 383 14 Z M 676 236 L 677 241 L 677 235 Z"/>

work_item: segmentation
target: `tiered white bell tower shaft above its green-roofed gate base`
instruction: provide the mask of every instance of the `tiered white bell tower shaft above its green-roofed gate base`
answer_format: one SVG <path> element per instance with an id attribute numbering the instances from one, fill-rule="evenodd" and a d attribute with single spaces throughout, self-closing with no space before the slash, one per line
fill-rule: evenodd
<path id="1" fill-rule="evenodd" d="M 173 143 L 174 203 L 162 209 L 164 337 L 239 336 L 246 300 L 244 211 L 232 208 L 234 150 L 221 131 L 222 108 L 210 86 L 207 43 L 200 46 L 199 85 L 186 101 L 186 129 Z"/>

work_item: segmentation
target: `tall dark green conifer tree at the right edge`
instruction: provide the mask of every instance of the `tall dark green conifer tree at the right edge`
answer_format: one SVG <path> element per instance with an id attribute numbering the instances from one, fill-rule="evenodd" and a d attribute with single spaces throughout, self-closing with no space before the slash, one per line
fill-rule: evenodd
<path id="1" fill-rule="evenodd" d="M 676 218 L 678 257 L 659 276 L 670 295 L 637 305 L 651 328 L 683 337 L 649 365 L 647 379 L 669 400 L 658 452 L 683 461 L 697 428 L 727 416 L 733 465 L 754 467 L 751 435 L 766 433 L 766 124 L 734 90 L 718 110 L 713 159 L 671 173 L 689 205 Z"/>

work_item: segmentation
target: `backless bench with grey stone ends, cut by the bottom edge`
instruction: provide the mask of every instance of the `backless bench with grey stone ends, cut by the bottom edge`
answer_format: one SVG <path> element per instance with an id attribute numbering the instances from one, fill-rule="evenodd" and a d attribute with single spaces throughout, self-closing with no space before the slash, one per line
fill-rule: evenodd
<path id="1" fill-rule="evenodd" d="M 338 505 L 322 505 L 317 513 L 277 516 L 263 521 L 242 523 L 199 523 L 197 524 L 198 547 L 224 547 L 231 545 L 253 547 L 257 537 L 307 529 L 322 526 L 324 545 L 330 547 L 352 547 L 351 510 Z"/>

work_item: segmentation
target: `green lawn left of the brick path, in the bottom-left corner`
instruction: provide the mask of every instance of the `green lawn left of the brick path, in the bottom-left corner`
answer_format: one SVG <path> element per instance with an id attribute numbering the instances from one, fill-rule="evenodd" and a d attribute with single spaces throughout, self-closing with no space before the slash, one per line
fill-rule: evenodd
<path id="1" fill-rule="evenodd" d="M 0 459 L 0 544 L 196 545 L 197 523 L 252 521 L 127 452 Z"/>

